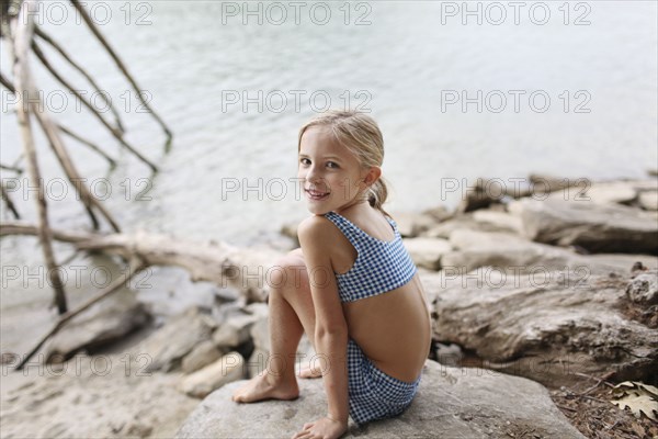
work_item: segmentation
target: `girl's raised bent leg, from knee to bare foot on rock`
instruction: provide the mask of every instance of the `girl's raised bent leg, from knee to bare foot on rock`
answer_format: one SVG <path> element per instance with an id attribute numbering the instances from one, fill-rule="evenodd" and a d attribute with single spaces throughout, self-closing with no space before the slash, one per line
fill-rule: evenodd
<path id="1" fill-rule="evenodd" d="M 269 324 L 271 349 L 266 367 L 258 376 L 236 390 L 232 399 L 252 403 L 261 399 L 294 399 L 299 395 L 295 378 L 295 354 L 306 329 L 313 340 L 315 309 L 308 274 L 300 249 L 282 258 L 271 277 Z"/>

